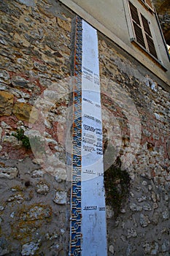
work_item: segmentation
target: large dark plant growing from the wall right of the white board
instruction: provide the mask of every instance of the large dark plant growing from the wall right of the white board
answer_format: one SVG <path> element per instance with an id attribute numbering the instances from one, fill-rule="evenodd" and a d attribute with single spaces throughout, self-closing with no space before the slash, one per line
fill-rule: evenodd
<path id="1" fill-rule="evenodd" d="M 115 218 L 120 214 L 121 207 L 128 197 L 130 185 L 131 178 L 127 170 L 121 170 L 121 161 L 117 157 L 115 164 L 104 172 L 106 204 L 112 207 Z"/>

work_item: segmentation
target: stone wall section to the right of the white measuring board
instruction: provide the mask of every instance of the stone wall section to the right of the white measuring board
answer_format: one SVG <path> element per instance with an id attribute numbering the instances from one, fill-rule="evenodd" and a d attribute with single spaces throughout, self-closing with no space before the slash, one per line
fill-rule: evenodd
<path id="1" fill-rule="evenodd" d="M 102 35 L 99 56 L 105 140 L 115 146 L 110 160 L 120 157 L 131 176 L 118 217 L 107 208 L 108 255 L 168 256 L 169 91 Z"/>

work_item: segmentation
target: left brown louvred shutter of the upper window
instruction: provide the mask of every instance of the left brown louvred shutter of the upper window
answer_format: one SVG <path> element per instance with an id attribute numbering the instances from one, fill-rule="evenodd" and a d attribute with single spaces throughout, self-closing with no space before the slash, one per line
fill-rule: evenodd
<path id="1" fill-rule="evenodd" d="M 130 1 L 129 1 L 129 7 L 131 10 L 131 18 L 132 18 L 132 22 L 133 22 L 133 26 L 134 26 L 134 33 L 135 33 L 136 41 L 139 42 L 139 44 L 142 45 L 144 48 L 146 48 L 145 43 L 144 43 L 144 37 L 142 34 L 142 28 L 141 28 L 141 24 L 140 24 L 140 20 L 139 20 L 138 11 L 137 11 L 136 7 L 134 7 L 134 4 L 131 4 Z"/>

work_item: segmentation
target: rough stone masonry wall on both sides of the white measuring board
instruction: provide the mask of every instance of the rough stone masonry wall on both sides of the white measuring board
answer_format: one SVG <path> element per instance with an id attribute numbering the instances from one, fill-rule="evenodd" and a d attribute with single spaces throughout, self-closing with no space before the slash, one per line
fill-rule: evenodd
<path id="1" fill-rule="evenodd" d="M 55 0 L 0 12 L 0 255 L 68 255 L 75 14 Z M 168 256 L 169 86 L 99 32 L 98 47 L 104 143 L 131 177 L 120 214 L 107 206 L 108 255 Z"/>

